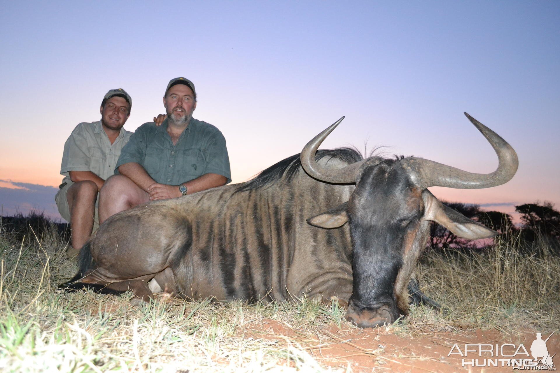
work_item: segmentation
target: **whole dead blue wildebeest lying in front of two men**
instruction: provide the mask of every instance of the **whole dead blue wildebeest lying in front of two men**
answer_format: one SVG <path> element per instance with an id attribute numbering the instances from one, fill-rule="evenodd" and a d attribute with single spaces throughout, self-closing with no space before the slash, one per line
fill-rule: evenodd
<path id="1" fill-rule="evenodd" d="M 430 221 L 469 239 L 496 234 L 426 189 L 487 188 L 514 176 L 515 151 L 467 116 L 498 155 L 492 173 L 414 157 L 361 159 L 350 149 L 318 152 L 340 119 L 306 145 L 301 160 L 286 158 L 252 181 L 112 216 L 61 286 L 132 290 L 136 301 L 152 291 L 247 301 L 335 296 L 348 300 L 346 318 L 360 327 L 394 322 L 407 313 L 407 285 Z"/>

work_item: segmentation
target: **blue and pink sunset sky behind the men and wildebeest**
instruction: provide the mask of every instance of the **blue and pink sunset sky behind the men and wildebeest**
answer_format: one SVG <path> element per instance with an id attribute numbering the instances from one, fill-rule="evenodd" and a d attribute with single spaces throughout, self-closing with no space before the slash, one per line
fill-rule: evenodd
<path id="1" fill-rule="evenodd" d="M 519 171 L 441 199 L 560 207 L 560 2 L 8 2 L 0 11 L 0 205 L 57 216 L 64 141 L 111 88 L 125 128 L 164 112 L 167 82 L 227 140 L 242 182 L 339 117 L 323 148 L 385 146 L 471 172 L 497 157 L 466 111 L 517 151 Z"/>

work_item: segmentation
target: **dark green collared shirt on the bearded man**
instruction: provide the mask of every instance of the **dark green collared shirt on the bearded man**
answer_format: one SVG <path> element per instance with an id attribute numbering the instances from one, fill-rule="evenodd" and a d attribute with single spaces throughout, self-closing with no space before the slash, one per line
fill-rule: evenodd
<path id="1" fill-rule="evenodd" d="M 206 173 L 217 173 L 231 182 L 226 139 L 220 130 L 193 118 L 173 145 L 167 126 L 167 120 L 161 126 L 154 122 L 141 125 L 123 148 L 116 167 L 138 163 L 153 180 L 167 185 L 179 185 Z"/>

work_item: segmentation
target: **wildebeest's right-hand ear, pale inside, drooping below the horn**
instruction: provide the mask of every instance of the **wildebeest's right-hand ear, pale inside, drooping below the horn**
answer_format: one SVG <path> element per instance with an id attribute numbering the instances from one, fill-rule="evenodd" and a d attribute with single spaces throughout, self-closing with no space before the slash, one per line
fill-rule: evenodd
<path id="1" fill-rule="evenodd" d="M 498 232 L 486 228 L 486 226 L 442 204 L 427 190 L 422 193 L 422 199 L 426 208 L 424 219 L 436 221 L 436 223 L 445 226 L 461 238 L 490 238 L 498 234 Z"/>

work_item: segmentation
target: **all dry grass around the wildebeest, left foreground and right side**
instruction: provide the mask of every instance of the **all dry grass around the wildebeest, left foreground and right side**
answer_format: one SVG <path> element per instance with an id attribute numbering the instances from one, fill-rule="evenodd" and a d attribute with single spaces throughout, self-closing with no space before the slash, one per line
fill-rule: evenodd
<path id="1" fill-rule="evenodd" d="M 350 371 L 309 353 L 333 327 L 353 326 L 337 305 L 227 304 L 161 299 L 142 308 L 119 297 L 53 290 L 76 265 L 54 230 L 20 242 L 0 233 L 0 371 L 284 372 Z M 521 255 L 515 239 L 475 255 L 430 253 L 419 265 L 424 291 L 450 311 L 413 308 L 391 332 L 560 328 L 560 259 L 544 245 Z M 259 337 L 254 325 L 286 325 L 292 338 Z"/>

